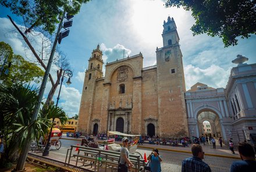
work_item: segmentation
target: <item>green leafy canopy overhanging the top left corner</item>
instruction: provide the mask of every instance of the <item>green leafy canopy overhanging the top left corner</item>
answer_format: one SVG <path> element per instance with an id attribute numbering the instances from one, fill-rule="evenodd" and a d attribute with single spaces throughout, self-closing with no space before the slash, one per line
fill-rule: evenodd
<path id="1" fill-rule="evenodd" d="M 89 0 L 2 0 L 0 4 L 9 8 L 16 16 L 22 16 L 27 25 L 41 27 L 53 34 L 59 15 L 64 8 L 69 14 L 77 14 L 82 3 Z"/>

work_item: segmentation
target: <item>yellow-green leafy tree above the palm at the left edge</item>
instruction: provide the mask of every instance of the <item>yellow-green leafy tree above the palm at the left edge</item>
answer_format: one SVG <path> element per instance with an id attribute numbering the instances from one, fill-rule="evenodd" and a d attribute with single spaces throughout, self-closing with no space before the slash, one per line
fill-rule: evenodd
<path id="1" fill-rule="evenodd" d="M 10 67 L 5 65 L 3 71 L 9 69 L 8 75 L 2 74 L 0 80 L 6 86 L 20 85 L 34 81 L 40 82 L 44 71 L 34 63 L 24 60 L 20 55 L 13 54 L 12 47 L 8 43 L 0 42 L 1 58 L 8 56 L 8 62 L 12 63 Z"/>

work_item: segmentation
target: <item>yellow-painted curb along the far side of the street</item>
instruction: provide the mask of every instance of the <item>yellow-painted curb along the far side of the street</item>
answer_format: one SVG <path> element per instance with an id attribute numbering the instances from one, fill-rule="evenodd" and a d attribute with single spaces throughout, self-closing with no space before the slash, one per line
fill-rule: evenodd
<path id="1" fill-rule="evenodd" d="M 82 141 L 81 139 L 75 139 L 75 138 L 61 138 L 63 140 L 75 140 L 75 141 Z M 103 141 L 97 141 L 98 143 L 103 143 Z M 145 149 L 154 149 L 155 147 L 145 147 L 145 146 L 140 146 L 138 145 L 138 148 L 145 148 Z M 158 150 L 161 151 L 170 151 L 170 152 L 182 152 L 182 153 L 192 153 L 190 151 L 181 151 L 181 150 L 175 150 L 175 149 L 166 149 L 166 148 L 157 148 Z M 215 157 L 221 157 L 221 158 L 231 158 L 231 159 L 241 159 L 240 157 L 236 156 L 228 156 L 228 155 L 218 155 L 218 154 L 212 154 L 212 153 L 205 153 L 205 155 L 208 156 L 215 156 Z"/>

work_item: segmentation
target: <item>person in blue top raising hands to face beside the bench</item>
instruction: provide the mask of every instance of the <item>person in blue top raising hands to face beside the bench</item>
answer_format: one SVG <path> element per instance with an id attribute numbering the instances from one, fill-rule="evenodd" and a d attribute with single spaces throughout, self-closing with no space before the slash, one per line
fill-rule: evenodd
<path id="1" fill-rule="evenodd" d="M 161 162 L 162 159 L 159 156 L 158 149 L 153 149 L 150 155 L 148 155 L 148 160 L 150 160 L 150 171 L 151 172 L 161 172 Z"/>

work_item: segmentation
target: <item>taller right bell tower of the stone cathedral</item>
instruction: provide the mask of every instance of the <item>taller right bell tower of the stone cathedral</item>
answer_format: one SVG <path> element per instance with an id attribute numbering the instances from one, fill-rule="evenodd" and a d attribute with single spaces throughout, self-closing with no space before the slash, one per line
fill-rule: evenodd
<path id="1" fill-rule="evenodd" d="M 163 21 L 163 47 L 157 47 L 158 121 L 160 136 L 188 136 L 182 52 L 175 21 Z"/>

